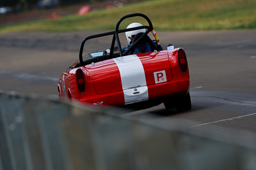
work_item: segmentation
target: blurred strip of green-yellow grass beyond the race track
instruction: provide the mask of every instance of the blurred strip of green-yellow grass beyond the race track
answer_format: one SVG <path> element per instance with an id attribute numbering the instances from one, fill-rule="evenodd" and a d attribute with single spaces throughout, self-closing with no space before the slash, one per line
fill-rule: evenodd
<path id="1" fill-rule="evenodd" d="M 92 11 L 83 16 L 67 15 L 49 22 L 38 20 L 9 25 L 1 27 L 0 32 L 113 30 L 120 17 L 138 12 L 147 15 L 158 31 L 256 29 L 255 0 L 158 0 Z M 125 20 L 122 28 L 133 21 Z"/>

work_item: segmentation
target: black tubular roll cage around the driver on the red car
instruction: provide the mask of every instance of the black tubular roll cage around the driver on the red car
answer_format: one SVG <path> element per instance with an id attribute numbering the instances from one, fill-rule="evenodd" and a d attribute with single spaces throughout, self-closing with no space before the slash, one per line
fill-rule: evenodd
<path id="1" fill-rule="evenodd" d="M 121 24 L 121 22 L 123 20 L 125 20 L 126 18 L 131 18 L 131 17 L 143 17 L 143 18 L 145 18 L 145 20 L 147 20 L 148 25 L 142 25 L 140 27 L 133 27 L 133 28 L 129 28 L 129 29 L 119 29 L 119 25 Z M 140 38 L 138 38 L 137 41 L 133 42 L 132 45 L 129 46 L 129 48 L 127 48 L 127 50 L 123 53 L 122 52 L 122 46 L 121 46 L 118 34 L 122 33 L 122 32 L 127 32 L 127 31 L 134 31 L 134 30 L 137 30 L 137 29 L 147 29 L 147 31 L 145 31 L 140 36 Z M 112 39 L 112 43 L 111 43 L 111 47 L 110 47 L 110 52 L 109 52 L 109 58 L 111 58 L 113 56 L 114 48 L 115 48 L 115 42 L 116 42 L 116 45 L 117 45 L 118 50 L 119 50 L 119 55 L 120 55 L 120 57 L 122 57 L 124 55 L 127 55 L 131 51 L 131 49 L 139 43 L 140 39 L 142 39 L 144 36 L 146 36 L 148 34 L 148 32 L 150 32 L 150 31 L 153 31 L 153 25 L 152 25 L 152 22 L 150 21 L 150 19 L 147 17 L 147 15 L 144 15 L 143 13 L 132 13 L 132 14 L 129 14 L 129 15 L 125 15 L 124 17 L 120 18 L 118 20 L 118 22 L 116 23 L 115 31 L 104 32 L 102 34 L 95 34 L 95 35 L 88 36 L 88 37 L 83 39 L 83 41 L 81 42 L 80 50 L 79 50 L 80 66 L 85 65 L 84 62 L 83 62 L 84 43 L 86 41 L 88 41 L 89 39 L 100 38 L 102 36 L 111 36 L 111 35 L 113 35 L 113 39 Z M 160 50 L 161 46 L 157 45 L 157 49 Z"/>

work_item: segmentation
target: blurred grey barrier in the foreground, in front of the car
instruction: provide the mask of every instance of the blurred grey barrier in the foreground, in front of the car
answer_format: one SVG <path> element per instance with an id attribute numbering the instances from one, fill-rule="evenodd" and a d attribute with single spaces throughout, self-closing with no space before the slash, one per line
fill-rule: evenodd
<path id="1" fill-rule="evenodd" d="M 0 92 L 0 169 L 256 169 L 256 149 L 58 99 Z"/>

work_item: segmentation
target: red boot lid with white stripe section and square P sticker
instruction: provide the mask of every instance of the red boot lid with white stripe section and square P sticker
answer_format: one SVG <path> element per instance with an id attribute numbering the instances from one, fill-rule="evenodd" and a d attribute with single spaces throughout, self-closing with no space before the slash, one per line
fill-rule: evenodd
<path id="1" fill-rule="evenodd" d="M 172 79 L 166 52 L 127 55 L 84 66 L 98 94 L 134 89 Z"/>

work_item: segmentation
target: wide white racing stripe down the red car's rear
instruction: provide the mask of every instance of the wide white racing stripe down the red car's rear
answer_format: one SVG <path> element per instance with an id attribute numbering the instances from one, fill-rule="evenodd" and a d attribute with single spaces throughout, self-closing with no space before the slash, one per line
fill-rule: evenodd
<path id="1" fill-rule="evenodd" d="M 125 104 L 148 100 L 145 71 L 137 55 L 127 55 L 113 59 L 118 66 Z"/>

